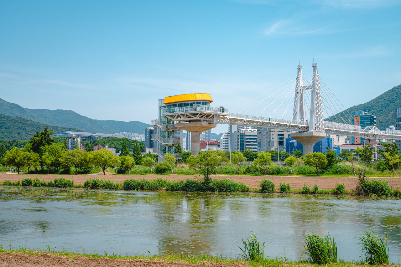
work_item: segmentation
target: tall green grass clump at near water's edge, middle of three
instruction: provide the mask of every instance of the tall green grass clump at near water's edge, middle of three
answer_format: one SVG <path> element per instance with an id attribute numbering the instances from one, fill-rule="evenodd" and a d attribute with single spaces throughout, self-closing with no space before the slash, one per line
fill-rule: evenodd
<path id="1" fill-rule="evenodd" d="M 302 255 L 308 255 L 311 263 L 319 265 L 337 263 L 337 242 L 334 241 L 333 236 L 328 234 L 326 237 L 321 237 L 311 233 L 305 237 L 305 241 L 305 250 Z"/>

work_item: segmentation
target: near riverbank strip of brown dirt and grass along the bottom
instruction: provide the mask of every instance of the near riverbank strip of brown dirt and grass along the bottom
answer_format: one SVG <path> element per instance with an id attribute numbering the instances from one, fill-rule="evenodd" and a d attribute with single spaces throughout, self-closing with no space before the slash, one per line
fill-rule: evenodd
<path id="1" fill-rule="evenodd" d="M 242 259 L 227 259 L 225 257 L 209 257 L 206 255 L 198 257 L 187 257 L 186 255 L 165 255 L 159 256 L 117 256 L 98 254 L 77 254 L 77 253 L 49 253 L 43 251 L 12 251 L 1 250 L 0 267 L 90 267 L 90 266 L 135 266 L 135 267 L 200 267 L 200 266 L 252 266 L 252 267 L 312 267 L 326 266 L 311 264 L 306 261 L 284 261 L 281 259 L 266 259 L 262 262 L 243 261 Z M 332 267 L 357 267 L 362 264 L 350 262 L 332 263 Z M 398 267 L 401 265 L 375 265 L 386 267 Z"/>

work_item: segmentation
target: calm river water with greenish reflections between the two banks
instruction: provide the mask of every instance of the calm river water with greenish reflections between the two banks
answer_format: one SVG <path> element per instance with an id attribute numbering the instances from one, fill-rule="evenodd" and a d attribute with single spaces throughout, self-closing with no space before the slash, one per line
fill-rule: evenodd
<path id="1" fill-rule="evenodd" d="M 309 231 L 330 233 L 338 257 L 359 259 L 358 234 L 388 234 L 401 259 L 400 198 L 259 193 L 109 191 L 0 186 L 0 244 L 103 253 L 235 257 L 255 233 L 265 255 L 300 259 Z"/>

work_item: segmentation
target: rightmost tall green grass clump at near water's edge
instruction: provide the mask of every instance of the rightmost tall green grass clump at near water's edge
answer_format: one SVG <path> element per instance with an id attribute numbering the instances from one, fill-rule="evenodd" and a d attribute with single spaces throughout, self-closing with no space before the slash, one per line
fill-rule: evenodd
<path id="1" fill-rule="evenodd" d="M 360 234 L 359 241 L 362 247 L 361 251 L 365 254 L 366 263 L 371 265 L 384 265 L 389 264 L 389 248 L 387 247 L 387 232 L 386 238 L 384 241 L 376 235 L 375 231 L 372 228 L 369 228 L 372 231 L 372 235 L 364 231 L 364 233 Z"/>

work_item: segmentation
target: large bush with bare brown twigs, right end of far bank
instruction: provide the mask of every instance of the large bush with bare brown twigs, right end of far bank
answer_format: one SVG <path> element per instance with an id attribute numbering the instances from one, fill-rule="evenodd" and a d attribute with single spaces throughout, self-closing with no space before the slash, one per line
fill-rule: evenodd
<path id="1" fill-rule="evenodd" d="M 369 180 L 360 178 L 356 186 L 356 194 L 359 196 L 392 196 L 391 190 L 386 180 Z"/>

